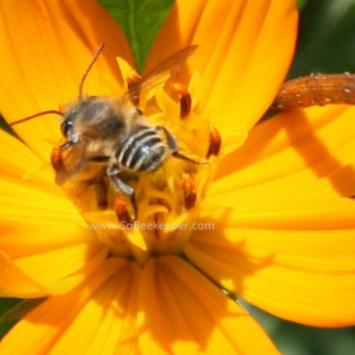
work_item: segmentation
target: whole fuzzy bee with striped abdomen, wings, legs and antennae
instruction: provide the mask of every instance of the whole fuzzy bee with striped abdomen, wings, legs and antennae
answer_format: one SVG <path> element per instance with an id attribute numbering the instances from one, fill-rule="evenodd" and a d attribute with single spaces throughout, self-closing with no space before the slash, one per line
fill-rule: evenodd
<path id="1" fill-rule="evenodd" d="M 59 114 L 62 117 L 61 133 L 66 141 L 51 156 L 56 183 L 62 185 L 75 178 L 90 179 L 104 167 L 114 188 L 130 196 L 137 216 L 134 189 L 120 177 L 123 171 L 139 174 L 158 170 L 170 155 L 201 164 L 181 154 L 177 139 L 170 131 L 162 125 L 149 124 L 146 116 L 134 105 L 142 91 L 165 83 L 167 77 L 180 71 L 196 46 L 177 51 L 145 77 L 131 83 L 129 91 L 120 98 L 83 94 L 85 78 L 102 49 L 103 44 L 83 74 L 79 84 L 79 98 L 63 112 L 44 111 L 12 122 L 12 125 L 42 114 Z"/>

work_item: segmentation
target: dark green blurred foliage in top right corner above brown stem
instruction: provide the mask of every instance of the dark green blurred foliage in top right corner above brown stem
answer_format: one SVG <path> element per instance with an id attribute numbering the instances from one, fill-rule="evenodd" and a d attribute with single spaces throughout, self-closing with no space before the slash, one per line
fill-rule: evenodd
<path id="1" fill-rule="evenodd" d="M 355 71 L 355 0 L 308 1 L 291 77 Z"/>

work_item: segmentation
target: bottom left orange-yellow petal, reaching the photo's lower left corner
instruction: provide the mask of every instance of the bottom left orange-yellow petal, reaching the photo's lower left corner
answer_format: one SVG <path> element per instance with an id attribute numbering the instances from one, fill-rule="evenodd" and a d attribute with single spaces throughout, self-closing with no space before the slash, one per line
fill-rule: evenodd
<path id="1" fill-rule="evenodd" d="M 137 265 L 107 259 L 82 285 L 52 296 L 20 320 L 4 337 L 0 353 L 138 354 L 138 280 Z"/>

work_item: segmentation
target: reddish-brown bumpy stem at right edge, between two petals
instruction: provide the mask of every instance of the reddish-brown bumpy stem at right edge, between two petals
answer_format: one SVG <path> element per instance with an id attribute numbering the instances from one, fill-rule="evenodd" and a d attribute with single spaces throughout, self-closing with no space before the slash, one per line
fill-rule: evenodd
<path id="1" fill-rule="evenodd" d="M 316 74 L 283 83 L 272 110 L 290 111 L 309 106 L 355 104 L 355 75 Z"/>

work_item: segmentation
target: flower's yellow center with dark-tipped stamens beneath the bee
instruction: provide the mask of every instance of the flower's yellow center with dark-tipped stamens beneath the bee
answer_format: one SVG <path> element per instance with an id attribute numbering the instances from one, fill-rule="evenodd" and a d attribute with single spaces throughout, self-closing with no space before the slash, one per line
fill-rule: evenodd
<path id="1" fill-rule="evenodd" d="M 192 83 L 189 91 L 193 94 Z M 181 87 L 177 88 L 181 94 Z M 177 142 L 178 153 L 191 161 L 170 152 L 156 170 L 122 170 L 118 176 L 130 186 L 134 200 L 118 191 L 105 164 L 94 177 L 75 179 L 64 189 L 112 255 L 134 257 L 145 264 L 152 255 L 182 252 L 213 177 L 220 141 L 209 119 L 194 112 L 194 100 L 190 110 L 188 101 L 155 87 L 139 101 L 148 127 L 167 130 Z M 169 152 L 164 130 L 156 131 Z"/>

